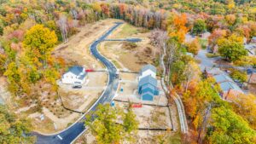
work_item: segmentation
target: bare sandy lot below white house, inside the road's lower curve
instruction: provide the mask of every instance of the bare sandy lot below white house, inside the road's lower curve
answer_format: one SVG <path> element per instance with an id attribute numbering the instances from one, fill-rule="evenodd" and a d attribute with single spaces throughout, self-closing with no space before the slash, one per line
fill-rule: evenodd
<path id="1" fill-rule="evenodd" d="M 72 84 L 61 84 L 61 82 L 59 82 L 59 95 L 61 96 L 65 107 L 79 112 L 85 112 L 102 94 L 102 91 L 107 84 L 107 80 L 107 72 L 89 72 L 86 82 L 81 89 L 73 89 Z M 64 109 L 61 106 L 61 101 L 43 107 L 43 111 L 37 113 L 38 112 L 32 113 L 29 117 L 34 120 L 33 124 L 35 125 L 36 130 L 38 128 L 39 132 L 43 133 L 52 133 L 62 130 L 76 121 L 81 115 Z M 44 114 L 44 120 L 40 120 L 42 114 Z M 46 128 L 42 129 L 38 127 L 38 124 L 45 124 Z"/>

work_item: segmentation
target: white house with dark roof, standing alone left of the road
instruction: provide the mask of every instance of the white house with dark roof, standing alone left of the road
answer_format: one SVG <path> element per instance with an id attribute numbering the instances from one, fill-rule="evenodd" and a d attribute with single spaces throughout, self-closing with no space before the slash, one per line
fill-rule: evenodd
<path id="1" fill-rule="evenodd" d="M 87 73 L 82 66 L 72 66 L 62 75 L 63 84 L 84 84 Z"/>

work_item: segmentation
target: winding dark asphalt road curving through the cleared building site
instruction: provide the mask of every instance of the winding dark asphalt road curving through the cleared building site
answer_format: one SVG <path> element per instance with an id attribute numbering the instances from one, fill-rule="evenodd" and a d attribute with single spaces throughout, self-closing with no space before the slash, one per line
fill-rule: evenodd
<path id="1" fill-rule="evenodd" d="M 90 111 L 95 111 L 96 107 L 99 104 L 110 102 L 113 99 L 113 96 L 115 95 L 115 92 L 118 88 L 119 80 L 115 77 L 117 69 L 113 65 L 112 62 L 110 62 L 107 58 L 102 56 L 97 51 L 97 44 L 101 43 L 105 40 L 108 35 L 113 32 L 115 28 L 117 28 L 122 23 L 116 23 L 115 26 L 113 26 L 111 29 L 108 30 L 105 34 L 102 35 L 102 37 L 99 37 L 94 43 L 90 45 L 90 52 L 92 55 L 96 57 L 97 60 L 101 60 L 102 63 L 108 68 L 108 85 L 107 89 L 103 92 L 102 96 L 98 101 L 96 101 L 96 104 L 91 107 Z M 84 119 L 84 118 L 83 118 Z M 42 125 L 43 127 L 44 125 Z M 59 134 L 55 135 L 40 135 L 38 133 L 32 133 L 32 135 L 37 136 L 37 143 L 38 144 L 69 144 L 73 142 L 83 131 L 85 130 L 83 120 L 79 120 L 79 122 L 73 124 L 71 127 L 69 127 L 67 130 L 62 131 Z"/>

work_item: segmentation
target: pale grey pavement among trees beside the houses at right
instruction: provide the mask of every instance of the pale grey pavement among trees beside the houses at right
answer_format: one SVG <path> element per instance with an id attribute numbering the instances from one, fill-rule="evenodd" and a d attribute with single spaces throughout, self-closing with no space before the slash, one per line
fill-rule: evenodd
<path id="1" fill-rule="evenodd" d="M 206 67 L 212 67 L 215 65 L 214 61 L 218 60 L 220 57 L 208 58 L 207 49 L 201 49 L 198 55 L 195 55 L 195 59 L 201 60 L 201 71 L 204 71 Z"/>

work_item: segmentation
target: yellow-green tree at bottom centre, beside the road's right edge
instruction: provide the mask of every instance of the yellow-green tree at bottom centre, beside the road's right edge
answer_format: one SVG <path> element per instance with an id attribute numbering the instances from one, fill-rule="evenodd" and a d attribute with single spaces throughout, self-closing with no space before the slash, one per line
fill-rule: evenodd
<path id="1" fill-rule="evenodd" d="M 125 115 L 125 116 L 124 116 Z M 124 124 L 117 124 L 121 118 Z M 124 114 L 123 110 L 111 107 L 109 104 L 99 105 L 95 112 L 86 117 L 85 126 L 88 126 L 92 135 L 96 136 L 99 144 L 113 144 L 129 138 L 134 130 L 137 130 L 137 122 L 130 110 Z"/>

